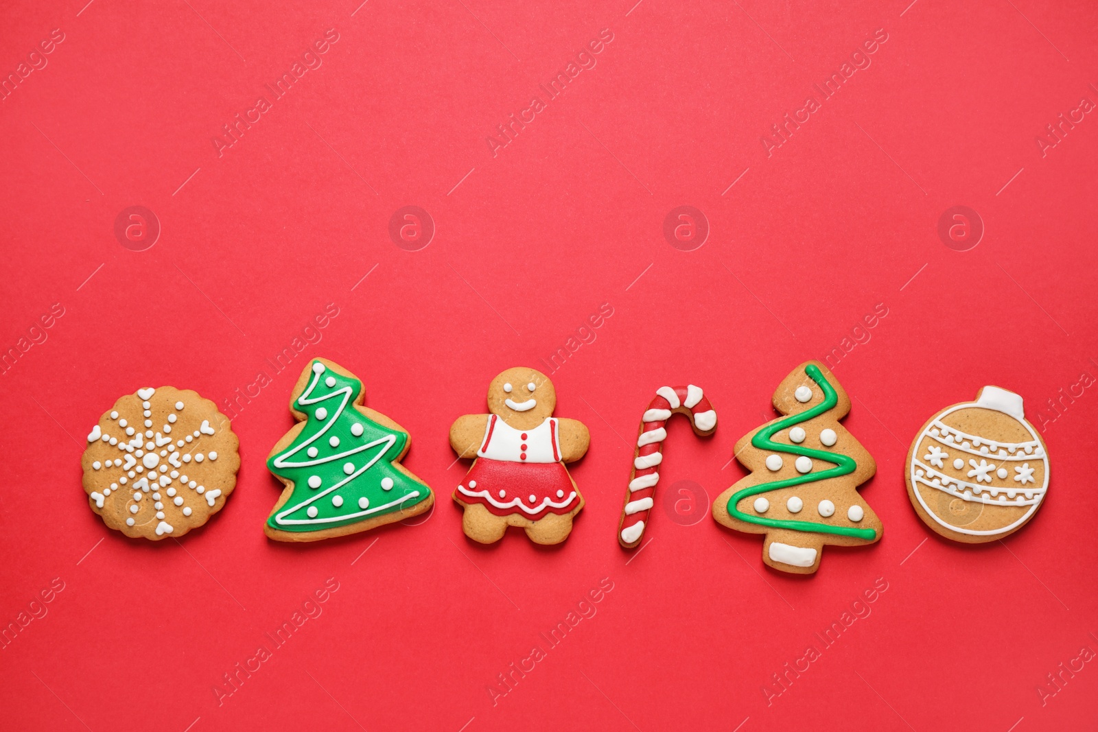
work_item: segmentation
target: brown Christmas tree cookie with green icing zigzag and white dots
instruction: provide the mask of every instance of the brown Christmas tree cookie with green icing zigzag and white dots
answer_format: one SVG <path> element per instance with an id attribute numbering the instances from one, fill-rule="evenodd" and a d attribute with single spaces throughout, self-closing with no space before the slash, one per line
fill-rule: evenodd
<path id="1" fill-rule="evenodd" d="M 881 520 L 858 493 L 876 464 L 839 424 L 850 398 L 819 361 L 794 369 L 773 402 L 785 416 L 736 443 L 736 457 L 751 474 L 717 497 L 713 517 L 730 529 L 765 534 L 768 565 L 811 574 L 824 544 L 881 539 Z"/>

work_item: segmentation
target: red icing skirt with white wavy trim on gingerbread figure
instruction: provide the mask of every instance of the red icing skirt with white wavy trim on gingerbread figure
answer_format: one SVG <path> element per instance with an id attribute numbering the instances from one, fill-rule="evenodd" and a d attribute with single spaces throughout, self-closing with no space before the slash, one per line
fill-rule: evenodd
<path id="1" fill-rule="evenodd" d="M 463 504 L 481 504 L 496 516 L 518 514 L 536 521 L 571 514 L 580 503 L 564 463 L 517 463 L 478 458 L 453 492 Z"/>

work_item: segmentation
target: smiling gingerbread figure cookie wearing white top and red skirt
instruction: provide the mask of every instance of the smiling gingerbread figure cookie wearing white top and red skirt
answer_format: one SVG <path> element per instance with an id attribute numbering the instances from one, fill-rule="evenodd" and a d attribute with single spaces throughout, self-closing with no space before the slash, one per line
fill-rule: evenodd
<path id="1" fill-rule="evenodd" d="M 552 416 L 557 392 L 540 371 L 507 369 L 488 387 L 490 414 L 464 415 L 450 427 L 450 447 L 475 458 L 453 492 L 464 508 L 461 528 L 483 544 L 522 527 L 531 541 L 557 544 L 572 531 L 583 496 L 564 463 L 583 457 L 583 423 Z"/>

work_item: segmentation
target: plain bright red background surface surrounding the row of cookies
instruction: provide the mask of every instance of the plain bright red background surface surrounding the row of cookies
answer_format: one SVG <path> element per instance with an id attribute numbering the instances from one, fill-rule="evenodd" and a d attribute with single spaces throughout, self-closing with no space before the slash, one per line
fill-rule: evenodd
<path id="1" fill-rule="evenodd" d="M 0 103 L 0 346 L 65 311 L 0 378 L 0 620 L 64 583 L 0 651 L 5 729 L 1093 723 L 1095 664 L 1043 699 L 1038 686 L 1098 651 L 1098 395 L 1073 386 L 1098 375 L 1098 121 L 1044 156 L 1035 138 L 1098 101 L 1094 3 L 85 2 L 0 10 L 3 75 L 52 29 L 65 36 Z M 327 29 L 323 65 L 219 157 L 222 125 Z M 602 29 L 597 66 L 493 156 L 495 125 Z M 877 29 L 872 65 L 824 101 L 813 85 Z M 768 157 L 760 138 L 809 94 L 821 109 Z M 390 240 L 407 204 L 437 227 L 419 251 Z M 986 228 L 964 252 L 937 233 L 959 204 Z M 163 228 L 145 251 L 114 236 L 131 205 Z M 708 218 L 694 251 L 663 238 L 679 205 Z M 327 303 L 323 340 L 238 409 L 239 483 L 206 527 L 152 544 L 87 508 L 83 435 L 119 395 L 226 399 Z M 592 432 L 571 538 L 473 544 L 449 498 L 467 468 L 450 423 L 602 303 L 613 316 L 551 374 L 557 415 Z M 619 549 L 632 435 L 658 386 L 714 402 L 712 440 L 670 430 L 660 487 L 693 481 L 712 499 L 743 474 L 732 444 L 773 417 L 782 378 L 877 303 L 887 316 L 834 373 L 877 461 L 862 492 L 878 544 L 785 576 L 759 537 L 686 502 L 681 522 L 652 513 L 639 553 Z M 411 431 L 405 463 L 438 498 L 426 522 L 307 547 L 264 537 L 281 487 L 264 459 L 312 356 L 356 372 L 367 404 Z M 1022 394 L 1034 423 L 1044 412 L 1051 492 L 1006 541 L 954 545 L 915 516 L 904 458 L 923 420 L 988 383 Z M 219 705 L 223 674 L 328 577 L 323 613 Z M 596 615 L 549 649 L 539 632 L 604 577 Z M 881 577 L 872 613 L 822 650 L 814 633 Z M 535 644 L 546 657 L 493 706 L 488 686 Z M 768 701 L 810 644 L 821 657 Z"/>

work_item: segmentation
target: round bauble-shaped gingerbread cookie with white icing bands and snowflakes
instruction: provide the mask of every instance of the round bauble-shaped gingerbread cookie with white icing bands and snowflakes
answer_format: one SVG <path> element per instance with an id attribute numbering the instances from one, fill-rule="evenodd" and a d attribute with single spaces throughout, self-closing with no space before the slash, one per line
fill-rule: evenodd
<path id="1" fill-rule="evenodd" d="M 1049 488 L 1044 441 L 1022 397 L 998 386 L 942 409 L 907 453 L 907 495 L 919 518 L 954 541 L 1001 539 L 1033 518 Z"/>

